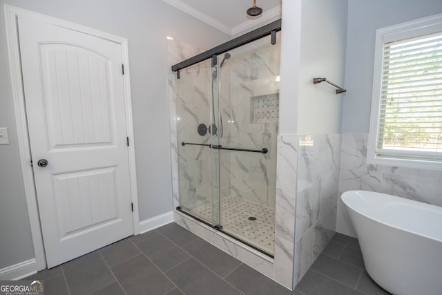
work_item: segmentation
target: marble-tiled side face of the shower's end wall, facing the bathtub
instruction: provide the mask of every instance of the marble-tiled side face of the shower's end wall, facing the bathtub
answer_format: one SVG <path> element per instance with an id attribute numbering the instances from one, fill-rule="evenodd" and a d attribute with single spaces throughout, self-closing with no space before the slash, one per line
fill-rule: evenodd
<path id="1" fill-rule="evenodd" d="M 340 134 L 299 138 L 294 283 L 298 283 L 335 232 Z"/>

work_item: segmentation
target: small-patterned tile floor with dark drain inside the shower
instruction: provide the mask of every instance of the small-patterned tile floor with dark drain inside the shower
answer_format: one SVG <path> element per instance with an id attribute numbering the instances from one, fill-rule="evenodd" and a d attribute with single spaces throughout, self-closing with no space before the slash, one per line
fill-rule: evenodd
<path id="1" fill-rule="evenodd" d="M 236 196 L 221 199 L 222 229 L 229 234 L 273 255 L 275 245 L 275 209 Z M 191 210 L 212 220 L 211 204 Z"/>

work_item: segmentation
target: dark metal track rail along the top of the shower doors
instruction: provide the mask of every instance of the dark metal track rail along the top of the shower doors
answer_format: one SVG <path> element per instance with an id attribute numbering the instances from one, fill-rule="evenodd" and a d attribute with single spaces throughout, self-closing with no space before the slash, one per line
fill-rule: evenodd
<path id="1" fill-rule="evenodd" d="M 262 26 L 261 28 L 257 28 L 256 30 L 247 32 L 246 34 L 241 35 L 240 37 L 236 37 L 235 39 L 231 39 L 226 43 L 223 43 L 219 46 L 206 50 L 204 51 L 204 53 L 200 53 L 199 55 L 195 55 L 194 57 L 181 61 L 178 64 L 174 64 L 172 66 L 172 71 L 177 72 L 179 79 L 180 70 L 182 70 L 183 68 L 187 68 L 188 66 L 198 64 L 200 61 L 209 59 L 216 55 L 220 55 L 229 50 L 232 50 L 233 48 L 237 48 L 244 44 L 248 44 L 255 40 L 261 39 L 262 37 L 265 37 L 267 35 L 271 35 L 271 40 L 270 40 L 271 44 L 276 44 L 276 32 L 279 32 L 280 30 L 281 30 L 281 19 L 278 19 L 265 26 Z"/>

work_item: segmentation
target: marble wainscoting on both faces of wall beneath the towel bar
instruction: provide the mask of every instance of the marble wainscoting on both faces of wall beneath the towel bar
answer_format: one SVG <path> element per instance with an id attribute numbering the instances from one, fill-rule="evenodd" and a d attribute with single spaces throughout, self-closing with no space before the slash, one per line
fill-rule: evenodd
<path id="1" fill-rule="evenodd" d="M 340 134 L 278 137 L 275 280 L 295 287 L 335 234 Z"/>

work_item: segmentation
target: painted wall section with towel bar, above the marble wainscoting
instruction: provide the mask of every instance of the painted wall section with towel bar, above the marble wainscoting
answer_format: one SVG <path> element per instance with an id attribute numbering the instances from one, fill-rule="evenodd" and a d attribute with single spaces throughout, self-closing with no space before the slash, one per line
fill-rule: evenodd
<path id="1" fill-rule="evenodd" d="M 347 0 L 282 0 L 280 135 L 340 133 Z"/>

